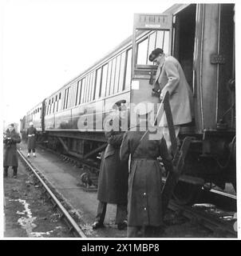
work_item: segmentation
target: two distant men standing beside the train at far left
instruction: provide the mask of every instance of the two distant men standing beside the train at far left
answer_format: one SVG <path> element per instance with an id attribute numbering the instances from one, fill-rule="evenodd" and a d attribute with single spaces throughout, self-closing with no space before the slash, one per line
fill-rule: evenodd
<path id="1" fill-rule="evenodd" d="M 36 134 L 37 130 L 34 127 L 34 123 L 30 122 L 30 127 L 26 131 L 26 136 L 28 138 L 28 154 L 27 157 L 30 158 L 31 150 L 33 151 L 34 157 L 35 146 L 36 146 Z M 11 123 L 6 132 L 3 134 L 3 144 L 4 144 L 4 154 L 3 154 L 3 169 L 4 178 L 8 177 L 8 169 L 10 166 L 13 168 L 13 178 L 17 178 L 18 173 L 18 154 L 17 154 L 17 144 L 22 141 L 20 134 L 14 128 L 14 123 Z"/>

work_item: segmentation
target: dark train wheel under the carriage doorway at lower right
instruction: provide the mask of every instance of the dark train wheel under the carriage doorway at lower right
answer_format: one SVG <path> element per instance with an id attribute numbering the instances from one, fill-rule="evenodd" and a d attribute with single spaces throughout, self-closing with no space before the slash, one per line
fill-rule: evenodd
<path id="1" fill-rule="evenodd" d="M 178 182 L 172 196 L 180 205 L 192 205 L 200 194 L 201 188 L 202 186 L 193 185 L 187 182 Z"/>

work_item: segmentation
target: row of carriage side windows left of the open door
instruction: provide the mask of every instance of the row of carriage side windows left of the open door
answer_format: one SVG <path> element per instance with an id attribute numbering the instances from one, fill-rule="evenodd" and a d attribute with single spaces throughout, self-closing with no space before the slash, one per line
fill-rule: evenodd
<path id="1" fill-rule="evenodd" d="M 118 54 L 105 65 L 87 74 L 64 90 L 61 108 L 61 93 L 49 98 L 45 114 L 53 114 L 98 98 L 105 98 L 128 90 L 131 83 L 132 49 Z M 125 68 L 126 67 L 126 68 Z"/>

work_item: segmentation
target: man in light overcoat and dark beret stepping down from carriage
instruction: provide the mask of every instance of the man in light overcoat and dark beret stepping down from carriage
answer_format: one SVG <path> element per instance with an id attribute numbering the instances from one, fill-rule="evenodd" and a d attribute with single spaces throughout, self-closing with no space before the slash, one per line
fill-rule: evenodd
<path id="1" fill-rule="evenodd" d="M 152 50 L 152 54 L 149 55 L 149 60 L 151 62 L 156 62 L 158 65 L 154 87 L 156 91 L 160 91 L 160 100 L 162 100 L 167 91 L 170 94 L 169 102 L 172 110 L 173 125 L 177 136 L 180 131 L 180 125 L 192 122 L 192 90 L 190 89 L 190 86 L 188 86 L 184 70 L 176 58 L 167 56 L 162 49 L 156 48 L 155 50 Z M 170 149 L 171 140 L 165 116 L 161 120 L 161 126 L 164 126 L 164 138 L 166 139 L 168 149 Z"/>

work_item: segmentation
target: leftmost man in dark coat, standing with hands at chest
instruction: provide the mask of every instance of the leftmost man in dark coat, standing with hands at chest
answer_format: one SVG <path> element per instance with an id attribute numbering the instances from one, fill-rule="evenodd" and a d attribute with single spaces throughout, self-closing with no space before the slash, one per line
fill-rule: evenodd
<path id="1" fill-rule="evenodd" d="M 18 155 L 17 143 L 21 142 L 20 135 L 14 129 L 14 124 L 10 124 L 6 133 L 3 136 L 4 153 L 3 153 L 3 168 L 4 177 L 8 176 L 8 167 L 12 166 L 14 170 L 13 177 L 17 178 L 18 172 Z"/>

